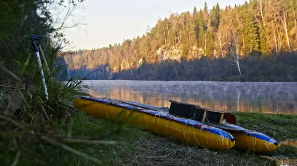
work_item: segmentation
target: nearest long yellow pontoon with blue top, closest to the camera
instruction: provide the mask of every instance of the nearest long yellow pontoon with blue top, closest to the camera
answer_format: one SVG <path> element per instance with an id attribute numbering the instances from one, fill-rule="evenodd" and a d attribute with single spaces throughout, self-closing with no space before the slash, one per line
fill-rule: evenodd
<path id="1" fill-rule="evenodd" d="M 162 136 L 170 135 L 189 145 L 213 150 L 229 150 L 235 145 L 235 139 L 230 133 L 167 113 L 91 97 L 79 97 L 73 104 L 88 115 L 108 121 L 130 121 L 128 123 L 134 123 L 143 130 Z"/>

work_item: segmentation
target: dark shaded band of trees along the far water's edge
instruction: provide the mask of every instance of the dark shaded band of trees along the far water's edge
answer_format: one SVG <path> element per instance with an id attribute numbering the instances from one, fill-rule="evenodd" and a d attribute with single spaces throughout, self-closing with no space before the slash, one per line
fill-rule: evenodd
<path id="1" fill-rule="evenodd" d="M 241 61 L 240 75 L 231 57 L 187 62 L 143 64 L 140 68 L 115 73 L 111 79 L 164 81 L 297 81 L 297 54 L 280 57 L 246 56 Z M 94 78 L 93 78 L 94 79 Z"/>

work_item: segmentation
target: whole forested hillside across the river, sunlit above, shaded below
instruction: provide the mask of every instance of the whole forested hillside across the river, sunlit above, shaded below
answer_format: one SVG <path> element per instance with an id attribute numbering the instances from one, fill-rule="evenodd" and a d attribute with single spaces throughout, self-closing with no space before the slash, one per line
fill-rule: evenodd
<path id="1" fill-rule="evenodd" d="M 297 81 L 297 1 L 172 13 L 143 36 L 64 57 L 90 79 Z"/>

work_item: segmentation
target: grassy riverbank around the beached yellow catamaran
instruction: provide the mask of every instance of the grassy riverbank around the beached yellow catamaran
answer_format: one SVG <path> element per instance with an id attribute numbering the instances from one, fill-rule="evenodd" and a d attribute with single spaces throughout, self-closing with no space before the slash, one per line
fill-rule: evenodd
<path id="1" fill-rule="evenodd" d="M 211 151 L 183 145 L 172 137 L 159 137 L 137 127 L 111 123 L 83 113 L 73 115 L 67 124 L 55 126 L 60 135 L 82 135 L 109 141 L 110 144 L 67 143 L 68 146 L 99 160 L 102 166 L 269 166 L 278 160 L 296 162 L 297 146 L 285 140 L 297 140 L 297 115 L 235 113 L 238 124 L 268 134 L 281 145 L 273 153 L 255 154 L 234 149 Z M 115 142 L 110 142 L 115 141 Z M 295 142 L 296 143 L 296 142 Z M 18 165 L 92 166 L 84 158 L 48 144 L 30 146 L 22 153 Z M 12 163 L 16 154 L 0 156 L 0 164 Z M 1 164 L 1 165 L 2 165 Z"/>

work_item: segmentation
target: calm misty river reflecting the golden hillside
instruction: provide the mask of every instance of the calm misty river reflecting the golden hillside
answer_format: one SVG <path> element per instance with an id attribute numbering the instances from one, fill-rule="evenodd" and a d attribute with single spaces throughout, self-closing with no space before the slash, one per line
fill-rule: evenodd
<path id="1" fill-rule="evenodd" d="M 297 82 L 92 80 L 95 97 L 169 107 L 169 100 L 225 111 L 297 114 Z"/>

